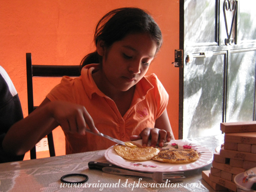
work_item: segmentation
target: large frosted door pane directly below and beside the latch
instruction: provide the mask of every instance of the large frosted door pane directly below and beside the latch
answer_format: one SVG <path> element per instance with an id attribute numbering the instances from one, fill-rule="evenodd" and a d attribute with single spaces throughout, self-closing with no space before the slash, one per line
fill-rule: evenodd
<path id="1" fill-rule="evenodd" d="M 223 62 L 198 57 L 184 68 L 183 138 L 221 134 Z"/>

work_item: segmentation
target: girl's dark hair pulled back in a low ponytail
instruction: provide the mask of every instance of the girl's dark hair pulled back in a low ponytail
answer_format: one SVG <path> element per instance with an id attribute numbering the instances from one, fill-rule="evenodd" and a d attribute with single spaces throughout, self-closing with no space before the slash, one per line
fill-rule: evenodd
<path id="1" fill-rule="evenodd" d="M 153 18 L 139 8 L 120 8 L 107 13 L 97 24 L 94 33 L 94 43 L 104 41 L 109 48 L 114 42 L 122 40 L 131 33 L 147 33 L 157 43 L 157 50 L 163 43 L 162 33 Z M 97 51 L 86 55 L 80 63 L 80 68 L 90 63 L 101 63 L 102 56 Z"/>

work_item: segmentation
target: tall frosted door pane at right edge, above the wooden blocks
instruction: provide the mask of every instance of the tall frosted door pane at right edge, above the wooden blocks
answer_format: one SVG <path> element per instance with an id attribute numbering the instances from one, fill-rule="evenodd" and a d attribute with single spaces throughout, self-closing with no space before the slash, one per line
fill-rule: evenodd
<path id="1" fill-rule="evenodd" d="M 228 69 L 227 122 L 252 121 L 256 51 L 232 53 Z"/>

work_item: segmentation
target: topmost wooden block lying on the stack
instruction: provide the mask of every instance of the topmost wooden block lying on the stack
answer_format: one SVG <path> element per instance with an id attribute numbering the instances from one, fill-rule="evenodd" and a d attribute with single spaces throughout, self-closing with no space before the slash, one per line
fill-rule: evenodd
<path id="1" fill-rule="evenodd" d="M 256 132 L 256 121 L 220 123 L 224 133 Z"/>

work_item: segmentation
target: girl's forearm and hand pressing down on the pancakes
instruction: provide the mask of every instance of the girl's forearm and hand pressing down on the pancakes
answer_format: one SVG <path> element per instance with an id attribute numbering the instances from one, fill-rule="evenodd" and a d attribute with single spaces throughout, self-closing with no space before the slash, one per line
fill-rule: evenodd
<path id="1" fill-rule="evenodd" d="M 151 138 L 151 146 L 155 147 L 159 139 L 159 147 L 163 147 L 166 141 L 174 139 L 171 124 L 168 118 L 167 110 L 155 121 L 155 128 L 145 128 L 140 135 L 131 136 L 132 141 L 142 139 L 142 145 L 147 146 L 148 140 Z"/>

